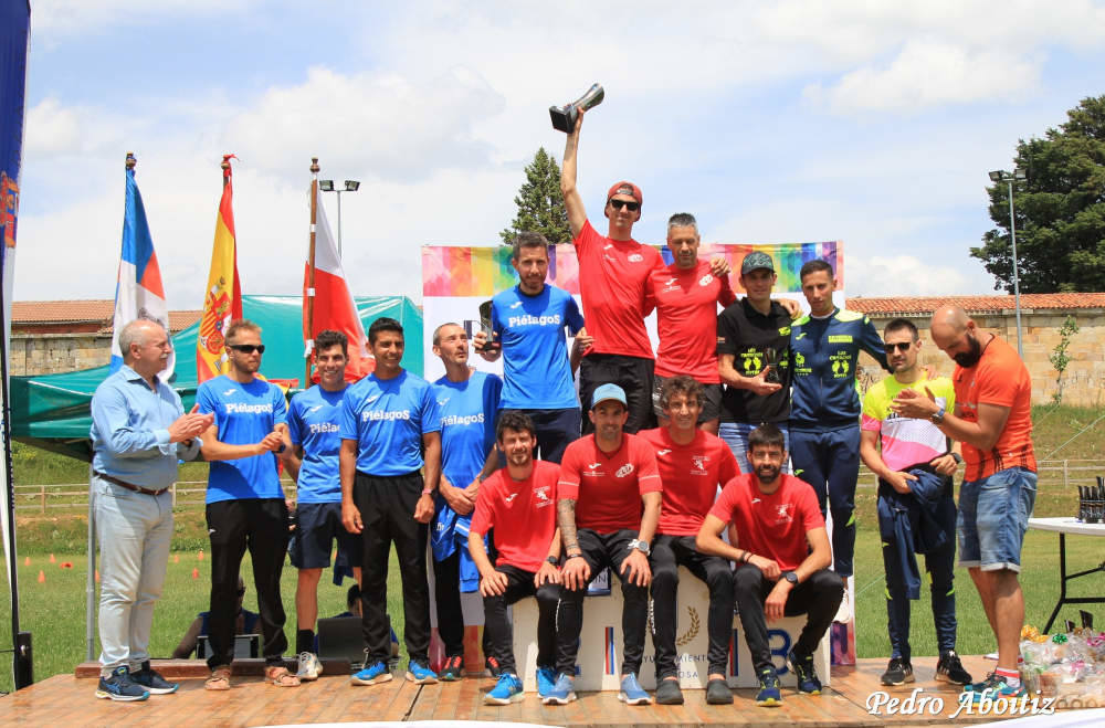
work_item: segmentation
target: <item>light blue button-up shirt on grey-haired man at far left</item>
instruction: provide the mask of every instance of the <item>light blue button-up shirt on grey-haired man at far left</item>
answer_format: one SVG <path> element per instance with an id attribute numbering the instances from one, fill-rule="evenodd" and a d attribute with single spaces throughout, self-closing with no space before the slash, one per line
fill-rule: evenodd
<path id="1" fill-rule="evenodd" d="M 194 460 L 191 446 L 169 442 L 169 425 L 185 413 L 180 395 L 160 379 L 157 390 L 127 365 L 92 397 L 92 466 L 131 485 L 160 490 L 177 479 L 177 460 Z"/>

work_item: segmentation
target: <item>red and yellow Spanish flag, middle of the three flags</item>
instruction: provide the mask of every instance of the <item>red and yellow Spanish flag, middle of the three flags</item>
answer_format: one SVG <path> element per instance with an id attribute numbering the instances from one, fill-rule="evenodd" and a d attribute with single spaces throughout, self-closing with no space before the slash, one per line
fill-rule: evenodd
<path id="1" fill-rule="evenodd" d="M 233 186 L 230 160 L 222 156 L 222 200 L 214 223 L 214 246 L 211 250 L 211 272 L 203 294 L 203 315 L 196 339 L 196 381 L 206 382 L 227 371 L 228 358 L 223 331 L 235 318 L 242 317 L 242 284 L 238 277 L 238 246 L 234 239 L 234 211 L 231 205 Z"/>

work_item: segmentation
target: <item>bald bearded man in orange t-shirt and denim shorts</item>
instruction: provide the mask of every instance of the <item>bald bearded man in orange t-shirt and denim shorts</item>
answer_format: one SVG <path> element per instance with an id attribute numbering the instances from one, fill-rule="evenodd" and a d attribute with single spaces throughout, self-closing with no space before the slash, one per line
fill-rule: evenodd
<path id="1" fill-rule="evenodd" d="M 975 703 L 983 697 L 1025 695 L 1017 669 L 1024 624 L 1024 595 L 1017 574 L 1021 546 L 1035 503 L 1032 451 L 1032 383 L 1017 351 L 979 330 L 964 309 L 933 314 L 933 341 L 956 362 L 955 412 L 945 412 L 930 391 L 905 389 L 891 409 L 930 420 L 962 443 L 965 474 L 959 490 L 959 566 L 967 567 L 998 640 L 998 666 L 981 683 L 967 685 Z"/>

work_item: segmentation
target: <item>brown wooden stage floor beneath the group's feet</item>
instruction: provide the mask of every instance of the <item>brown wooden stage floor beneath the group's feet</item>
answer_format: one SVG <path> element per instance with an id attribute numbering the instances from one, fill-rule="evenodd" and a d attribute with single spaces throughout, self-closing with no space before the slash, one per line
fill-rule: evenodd
<path id="1" fill-rule="evenodd" d="M 993 664 L 982 657 L 965 657 L 964 664 L 978 679 Z M 175 695 L 150 696 L 144 703 L 113 703 L 94 697 L 91 678 L 55 675 L 4 698 L 0 698 L 2 725 L 67 726 L 265 726 L 349 721 L 483 720 L 514 721 L 546 726 L 882 726 L 967 725 L 1017 715 L 967 715 L 955 720 L 958 689 L 933 679 L 935 657 L 914 663 L 917 682 L 884 688 L 878 675 L 884 660 L 862 660 L 855 667 L 835 667 L 832 687 L 820 696 L 800 696 L 783 690 L 783 705 L 760 708 L 753 703 L 754 690 L 735 692 L 732 706 L 706 705 L 702 690 L 684 692 L 682 706 L 629 707 L 615 693 L 583 693 L 566 707 L 543 706 L 536 695 L 509 706 L 493 707 L 482 701 L 493 686 L 490 677 L 465 678 L 457 683 L 418 686 L 401 676 L 376 686 L 352 686 L 348 675 L 323 676 L 297 688 L 278 688 L 257 677 L 236 677 L 225 693 L 209 693 L 202 679 L 181 680 Z M 944 699 L 943 714 L 916 716 L 870 715 L 869 696 L 886 690 L 891 697 L 907 698 L 917 688 L 924 695 Z"/>

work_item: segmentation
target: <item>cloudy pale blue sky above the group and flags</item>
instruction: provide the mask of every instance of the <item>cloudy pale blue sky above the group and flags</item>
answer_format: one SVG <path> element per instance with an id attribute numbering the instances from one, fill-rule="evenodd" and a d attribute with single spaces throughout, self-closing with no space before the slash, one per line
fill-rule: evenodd
<path id="1" fill-rule="evenodd" d="M 987 171 L 1105 93 L 1105 3 L 32 0 L 15 297 L 110 298 L 124 157 L 169 305 L 197 308 L 236 154 L 245 293 L 295 293 L 311 157 L 358 295 L 421 299 L 419 249 L 496 244 L 592 82 L 579 186 L 727 243 L 842 240 L 849 295 L 988 293 Z M 464 7 L 471 6 L 471 7 Z M 336 221 L 335 196 L 325 203 Z"/>

